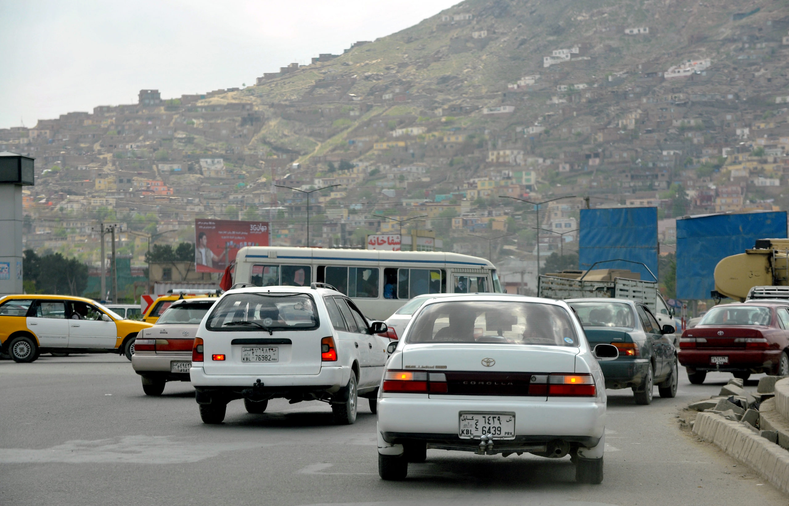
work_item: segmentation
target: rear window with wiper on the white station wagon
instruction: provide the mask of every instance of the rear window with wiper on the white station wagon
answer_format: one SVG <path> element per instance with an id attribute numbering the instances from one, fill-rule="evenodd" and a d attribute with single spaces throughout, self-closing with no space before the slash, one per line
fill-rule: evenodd
<path id="1" fill-rule="evenodd" d="M 315 301 L 308 294 L 243 293 L 219 299 L 206 327 L 209 330 L 314 330 L 318 328 Z"/>

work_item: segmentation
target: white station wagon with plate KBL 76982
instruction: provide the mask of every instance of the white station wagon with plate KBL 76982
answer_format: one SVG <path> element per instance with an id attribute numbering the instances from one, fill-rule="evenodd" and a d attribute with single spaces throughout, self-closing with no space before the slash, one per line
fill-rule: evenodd
<path id="1" fill-rule="evenodd" d="M 335 422 L 356 421 L 358 397 L 376 397 L 389 339 L 356 305 L 323 283 L 311 287 L 229 290 L 204 317 L 189 371 L 205 423 L 221 423 L 226 405 L 244 399 L 249 413 L 268 399 L 331 404 Z"/>

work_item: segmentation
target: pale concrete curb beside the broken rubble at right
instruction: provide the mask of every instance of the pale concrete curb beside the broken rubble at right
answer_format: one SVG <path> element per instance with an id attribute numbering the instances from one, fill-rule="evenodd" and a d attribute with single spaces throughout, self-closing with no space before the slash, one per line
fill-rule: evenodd
<path id="1" fill-rule="evenodd" d="M 789 493 L 789 451 L 753 433 L 741 422 L 715 413 L 699 413 L 693 432 L 746 463 L 783 493 Z"/>

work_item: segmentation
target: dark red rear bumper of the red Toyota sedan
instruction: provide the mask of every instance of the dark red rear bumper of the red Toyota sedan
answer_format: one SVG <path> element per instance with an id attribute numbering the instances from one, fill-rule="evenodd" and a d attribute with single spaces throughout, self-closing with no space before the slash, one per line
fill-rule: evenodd
<path id="1" fill-rule="evenodd" d="M 728 357 L 729 362 L 716 365 L 710 357 Z M 679 364 L 697 371 L 755 371 L 776 373 L 781 350 L 743 350 L 731 348 L 709 348 L 680 350 Z"/>

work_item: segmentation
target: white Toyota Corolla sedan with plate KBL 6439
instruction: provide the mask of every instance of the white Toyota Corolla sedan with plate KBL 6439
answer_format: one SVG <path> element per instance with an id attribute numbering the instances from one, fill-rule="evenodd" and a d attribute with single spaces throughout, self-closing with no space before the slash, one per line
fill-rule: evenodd
<path id="1" fill-rule="evenodd" d="M 378 469 L 406 477 L 428 448 L 570 455 L 578 482 L 603 481 L 605 382 L 572 309 L 506 294 L 436 298 L 413 316 L 378 397 Z"/>

